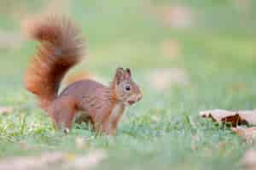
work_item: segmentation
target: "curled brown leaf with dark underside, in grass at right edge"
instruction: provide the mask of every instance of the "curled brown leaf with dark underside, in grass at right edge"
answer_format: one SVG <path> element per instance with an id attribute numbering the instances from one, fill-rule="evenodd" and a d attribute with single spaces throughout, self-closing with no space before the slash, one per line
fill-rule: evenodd
<path id="1" fill-rule="evenodd" d="M 216 121 L 218 123 L 230 122 L 234 127 L 241 124 L 256 125 L 256 110 L 253 110 L 253 111 L 225 111 L 225 110 L 201 111 L 200 116 L 211 117 L 213 121 Z"/>

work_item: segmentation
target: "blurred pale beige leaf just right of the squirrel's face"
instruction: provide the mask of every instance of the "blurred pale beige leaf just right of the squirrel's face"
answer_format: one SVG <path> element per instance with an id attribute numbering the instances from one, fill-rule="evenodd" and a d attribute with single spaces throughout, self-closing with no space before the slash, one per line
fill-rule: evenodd
<path id="1" fill-rule="evenodd" d="M 174 84 L 186 85 L 188 77 L 185 71 L 179 68 L 156 69 L 148 75 L 148 82 L 157 90 L 165 90 Z"/>

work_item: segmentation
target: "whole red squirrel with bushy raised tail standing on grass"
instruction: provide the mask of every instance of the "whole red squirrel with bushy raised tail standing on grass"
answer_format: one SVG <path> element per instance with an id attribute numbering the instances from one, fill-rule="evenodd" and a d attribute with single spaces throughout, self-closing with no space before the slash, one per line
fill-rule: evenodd
<path id="1" fill-rule="evenodd" d="M 96 132 L 114 135 L 125 106 L 142 99 L 131 70 L 118 68 L 108 86 L 93 80 L 73 82 L 61 93 L 61 80 L 84 56 L 81 32 L 71 20 L 48 17 L 26 23 L 29 37 L 40 42 L 25 77 L 28 91 L 55 125 L 68 133 L 76 117 L 90 121 Z"/>

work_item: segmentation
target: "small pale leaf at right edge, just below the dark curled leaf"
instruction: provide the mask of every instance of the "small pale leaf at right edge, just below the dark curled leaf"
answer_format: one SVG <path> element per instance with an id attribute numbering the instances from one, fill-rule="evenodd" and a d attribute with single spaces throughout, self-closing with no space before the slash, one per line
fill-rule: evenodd
<path id="1" fill-rule="evenodd" d="M 245 139 L 247 143 L 253 143 L 256 139 L 256 127 L 236 127 L 232 128 L 232 131 Z"/>

